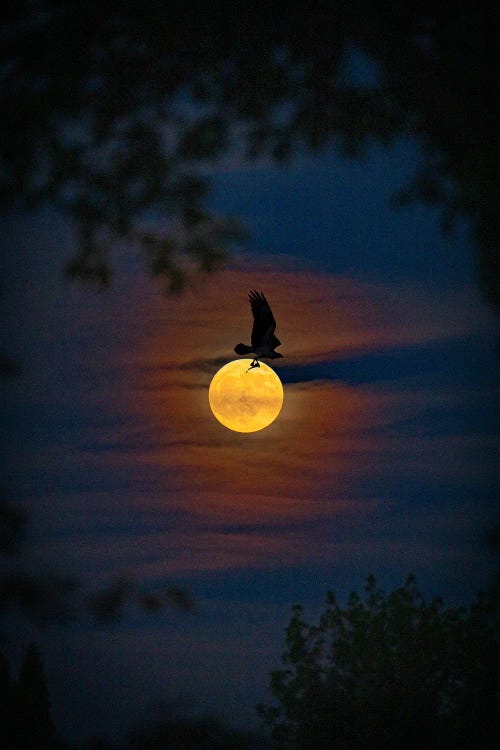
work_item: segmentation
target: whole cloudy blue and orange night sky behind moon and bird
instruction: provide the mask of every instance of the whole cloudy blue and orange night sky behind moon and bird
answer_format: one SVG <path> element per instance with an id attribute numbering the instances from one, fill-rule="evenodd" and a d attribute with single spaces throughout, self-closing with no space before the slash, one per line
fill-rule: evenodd
<path id="1" fill-rule="evenodd" d="M 449 604 L 491 581 L 494 317 L 467 226 L 443 237 L 432 209 L 390 207 L 416 156 L 398 142 L 364 161 L 225 163 L 212 205 L 251 240 L 175 297 L 126 247 L 108 290 L 64 281 L 65 220 L 4 221 L 22 365 L 2 383 L 5 460 L 30 519 L 24 563 L 194 601 L 115 625 L 7 623 L 15 665 L 40 644 L 64 736 L 116 736 L 158 704 L 258 726 L 294 603 L 312 620 L 328 590 L 370 573 L 390 589 L 413 572 Z M 277 321 L 285 401 L 242 435 L 211 415 L 208 386 L 249 338 L 251 289 Z"/>

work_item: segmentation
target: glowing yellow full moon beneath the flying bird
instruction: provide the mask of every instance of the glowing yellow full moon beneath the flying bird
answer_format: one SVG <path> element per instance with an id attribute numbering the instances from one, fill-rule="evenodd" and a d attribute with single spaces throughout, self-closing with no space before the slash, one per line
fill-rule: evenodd
<path id="1" fill-rule="evenodd" d="M 208 389 L 213 415 L 235 432 L 256 432 L 274 422 L 283 406 L 283 386 L 274 370 L 251 359 L 235 359 L 218 370 Z"/>

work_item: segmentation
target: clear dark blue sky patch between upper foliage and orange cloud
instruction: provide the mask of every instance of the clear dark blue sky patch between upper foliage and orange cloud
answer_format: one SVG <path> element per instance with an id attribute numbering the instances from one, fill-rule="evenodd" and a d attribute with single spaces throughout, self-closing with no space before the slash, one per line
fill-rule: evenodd
<path id="1" fill-rule="evenodd" d="M 329 150 L 280 170 L 229 169 L 217 175 L 213 203 L 247 219 L 257 252 L 371 280 L 470 283 L 475 261 L 465 223 L 442 237 L 438 209 L 390 210 L 419 158 L 418 145 L 401 139 L 387 149 L 373 146 L 359 161 Z"/>

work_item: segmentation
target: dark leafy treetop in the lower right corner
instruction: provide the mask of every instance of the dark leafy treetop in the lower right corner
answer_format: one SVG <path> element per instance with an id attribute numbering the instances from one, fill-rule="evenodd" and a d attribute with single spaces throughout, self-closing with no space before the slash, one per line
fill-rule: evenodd
<path id="1" fill-rule="evenodd" d="M 497 746 L 492 596 L 445 609 L 412 576 L 387 595 L 370 577 L 344 608 L 328 594 L 317 626 L 294 607 L 283 661 L 271 677 L 278 705 L 259 707 L 281 750 Z"/>

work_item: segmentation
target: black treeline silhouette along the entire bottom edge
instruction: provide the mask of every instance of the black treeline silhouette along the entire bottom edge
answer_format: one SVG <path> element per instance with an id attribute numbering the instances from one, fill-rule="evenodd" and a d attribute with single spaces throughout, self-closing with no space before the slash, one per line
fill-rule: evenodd
<path id="1" fill-rule="evenodd" d="M 295 605 L 274 703 L 256 707 L 262 733 L 212 717 L 166 715 L 118 744 L 85 750 L 493 750 L 498 746 L 499 593 L 495 580 L 467 607 L 426 601 L 410 575 L 389 593 L 374 576 L 341 605 L 327 594 L 317 624 Z M 57 733 L 42 658 L 25 652 L 17 679 L 0 654 L 3 746 L 75 750 Z"/>

